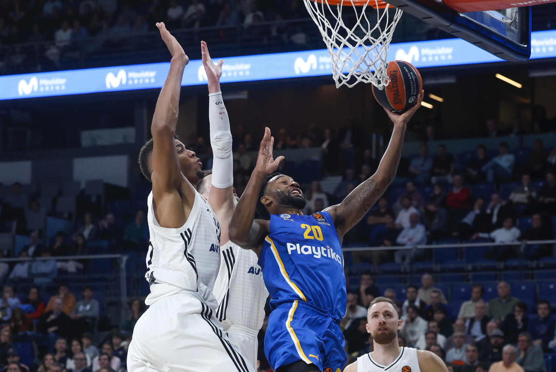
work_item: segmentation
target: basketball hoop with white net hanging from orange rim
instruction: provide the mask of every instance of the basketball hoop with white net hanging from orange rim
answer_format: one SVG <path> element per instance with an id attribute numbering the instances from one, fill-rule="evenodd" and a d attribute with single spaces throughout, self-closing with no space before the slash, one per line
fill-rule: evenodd
<path id="1" fill-rule="evenodd" d="M 392 6 L 381 0 L 303 1 L 330 53 L 336 87 L 353 87 L 363 81 L 384 89 L 390 82 L 386 54 L 402 11 L 396 8 L 391 16 L 388 9 Z M 349 6 L 355 11 L 351 27 L 342 19 L 344 7 Z M 368 18 L 367 9 L 376 12 L 376 22 Z"/>

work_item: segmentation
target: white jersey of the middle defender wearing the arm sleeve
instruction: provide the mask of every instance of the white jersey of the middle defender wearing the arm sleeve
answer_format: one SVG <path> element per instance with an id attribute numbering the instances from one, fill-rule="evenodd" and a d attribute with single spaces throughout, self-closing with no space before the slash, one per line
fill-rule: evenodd
<path id="1" fill-rule="evenodd" d="M 257 254 L 232 242 L 222 247 L 220 271 L 214 285 L 219 303 L 216 317 L 224 330 L 240 326 L 258 332 L 265 318 L 269 292 L 262 279 Z"/>

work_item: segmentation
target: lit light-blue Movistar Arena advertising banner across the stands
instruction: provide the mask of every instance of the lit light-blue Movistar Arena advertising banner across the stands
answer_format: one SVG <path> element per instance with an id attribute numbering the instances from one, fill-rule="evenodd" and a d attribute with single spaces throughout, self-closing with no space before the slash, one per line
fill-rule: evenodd
<path id="1" fill-rule="evenodd" d="M 556 57 L 556 30 L 533 32 L 531 45 L 531 59 Z M 394 43 L 390 45 L 387 60 L 408 61 L 418 68 L 503 62 L 458 38 Z M 162 62 L 0 76 L 0 100 L 160 88 L 169 68 L 170 62 Z M 226 57 L 220 81 L 245 82 L 331 74 L 330 55 L 326 49 L 321 49 Z M 201 60 L 190 61 L 181 85 L 202 85 L 206 81 Z"/>

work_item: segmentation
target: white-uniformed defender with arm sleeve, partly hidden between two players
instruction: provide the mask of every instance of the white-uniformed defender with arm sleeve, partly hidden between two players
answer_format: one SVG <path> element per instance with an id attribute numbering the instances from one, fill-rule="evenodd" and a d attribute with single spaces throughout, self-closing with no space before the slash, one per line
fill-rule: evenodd
<path id="1" fill-rule="evenodd" d="M 257 335 L 265 317 L 265 302 L 269 296 L 262 280 L 257 255 L 230 242 L 228 223 L 237 199 L 234 195 L 234 160 L 230 120 L 220 91 L 222 60 L 212 63 L 209 49 L 201 41 L 203 66 L 209 80 L 209 122 L 212 147 L 212 174 L 197 184 L 197 191 L 209 200 L 222 228 L 220 236 L 220 272 L 214 284 L 219 302 L 216 317 L 228 333 L 232 344 L 256 369 Z"/>

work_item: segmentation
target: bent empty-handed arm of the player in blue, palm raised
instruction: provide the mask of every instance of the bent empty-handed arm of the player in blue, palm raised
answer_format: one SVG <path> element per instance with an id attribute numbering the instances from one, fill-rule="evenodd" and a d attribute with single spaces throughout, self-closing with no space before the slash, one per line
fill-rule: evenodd
<path id="1" fill-rule="evenodd" d="M 257 254 L 262 246 L 262 239 L 269 234 L 269 221 L 254 220 L 259 193 L 266 176 L 275 172 L 280 161 L 284 160 L 284 156 L 279 156 L 274 160 L 273 147 L 274 137 L 270 135 L 270 129 L 265 128 L 265 135 L 257 155 L 257 164 L 251 173 L 244 193 L 237 202 L 228 232 L 232 242 L 242 248 L 253 249 Z"/>

